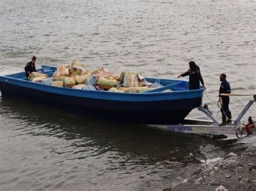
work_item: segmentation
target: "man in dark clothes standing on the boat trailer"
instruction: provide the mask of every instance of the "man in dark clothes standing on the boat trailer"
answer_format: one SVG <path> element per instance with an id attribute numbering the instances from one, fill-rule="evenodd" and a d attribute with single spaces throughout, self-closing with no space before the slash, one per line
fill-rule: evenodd
<path id="1" fill-rule="evenodd" d="M 231 93 L 231 88 L 230 84 L 226 81 L 226 74 L 220 74 L 220 90 L 219 94 L 230 94 Z M 222 123 L 231 123 L 231 112 L 230 109 L 228 108 L 228 104 L 230 103 L 230 96 L 221 96 L 219 97 L 222 100 L 222 105 L 221 105 L 221 114 L 222 114 Z"/>

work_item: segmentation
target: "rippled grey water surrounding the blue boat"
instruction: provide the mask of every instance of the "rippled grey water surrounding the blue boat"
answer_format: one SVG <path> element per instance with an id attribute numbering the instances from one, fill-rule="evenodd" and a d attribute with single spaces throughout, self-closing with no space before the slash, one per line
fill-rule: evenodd
<path id="1" fill-rule="evenodd" d="M 255 94 L 255 1 L 1 1 L 0 75 L 77 59 L 120 74 L 176 78 L 194 60 L 207 95 L 219 74 Z M 187 78 L 185 78 L 187 80 Z M 251 97 L 232 97 L 237 117 Z M 217 115 L 215 103 L 204 103 Z M 220 119 L 220 114 L 217 116 Z M 256 119 L 255 105 L 242 119 Z M 189 117 L 205 118 L 194 110 Z M 1 190 L 158 190 L 239 143 L 102 121 L 0 97 Z M 246 144 L 255 143 L 249 138 Z M 245 144 L 245 143 L 244 143 Z M 254 145 L 255 148 L 255 145 Z"/>

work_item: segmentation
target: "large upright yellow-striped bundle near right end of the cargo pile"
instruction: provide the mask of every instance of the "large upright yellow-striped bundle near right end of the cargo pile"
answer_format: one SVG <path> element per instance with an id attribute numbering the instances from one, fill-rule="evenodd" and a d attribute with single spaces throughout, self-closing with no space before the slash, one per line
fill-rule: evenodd
<path id="1" fill-rule="evenodd" d="M 123 82 L 123 86 L 127 87 L 137 87 L 145 86 L 145 78 L 140 75 L 129 71 L 123 71 L 120 75 L 120 81 Z"/>

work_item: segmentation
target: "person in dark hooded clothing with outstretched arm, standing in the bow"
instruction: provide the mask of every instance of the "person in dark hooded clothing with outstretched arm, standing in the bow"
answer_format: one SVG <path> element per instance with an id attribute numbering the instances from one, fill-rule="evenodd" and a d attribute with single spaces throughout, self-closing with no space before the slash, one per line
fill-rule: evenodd
<path id="1" fill-rule="evenodd" d="M 202 86 L 205 88 L 204 80 L 200 73 L 200 68 L 196 65 L 194 61 L 190 61 L 188 64 L 190 65 L 190 69 L 188 69 L 187 72 L 185 72 L 184 74 L 180 74 L 178 78 L 181 76 L 184 77 L 190 75 L 190 89 L 199 89 L 200 82 Z"/>

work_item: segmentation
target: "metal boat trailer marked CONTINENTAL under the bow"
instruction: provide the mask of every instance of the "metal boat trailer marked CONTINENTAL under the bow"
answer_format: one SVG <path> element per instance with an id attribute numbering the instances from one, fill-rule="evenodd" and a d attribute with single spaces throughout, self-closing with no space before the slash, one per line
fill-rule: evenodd
<path id="1" fill-rule="evenodd" d="M 242 124 L 241 118 L 246 114 L 251 105 L 256 102 L 256 95 L 253 95 L 253 100 L 250 100 L 245 108 L 241 111 L 237 119 L 230 124 L 220 124 L 217 118 L 213 116 L 213 113 L 208 109 L 208 105 L 200 105 L 199 111 L 204 112 L 207 117 L 211 118 L 211 121 L 198 120 L 198 119 L 184 119 L 180 124 L 176 125 L 149 125 L 152 128 L 172 131 L 183 132 L 193 134 L 205 134 L 205 135 L 236 135 L 238 138 L 242 138 L 242 135 L 251 135 L 256 132 L 255 122 L 249 117 L 248 124 Z"/>

